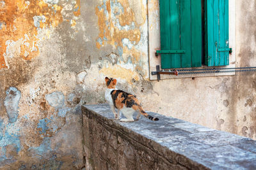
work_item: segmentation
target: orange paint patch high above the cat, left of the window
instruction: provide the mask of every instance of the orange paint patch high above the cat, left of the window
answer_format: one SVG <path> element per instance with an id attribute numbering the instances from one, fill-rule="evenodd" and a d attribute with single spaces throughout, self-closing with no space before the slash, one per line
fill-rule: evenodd
<path id="1" fill-rule="evenodd" d="M 141 32 L 139 27 L 134 27 L 132 29 L 119 29 L 116 26 L 117 20 L 120 23 L 120 26 L 129 25 L 135 23 L 134 12 L 129 8 L 129 3 L 127 0 L 118 1 L 120 5 L 124 8 L 124 11 L 120 12 L 118 6 L 112 6 L 110 4 L 111 0 L 106 1 L 102 6 L 97 6 L 95 8 L 95 13 L 98 16 L 98 25 L 99 25 L 99 38 L 102 39 L 102 44 L 99 42 L 96 43 L 97 48 L 104 46 L 105 43 L 108 43 L 113 46 L 123 46 L 122 39 L 127 38 L 130 41 L 135 41 L 136 44 L 139 43 L 141 38 Z M 106 6 L 106 9 L 104 8 Z M 111 9 L 112 8 L 112 9 Z M 106 15 L 108 13 L 108 15 Z M 111 18 L 111 15 L 116 17 Z"/>

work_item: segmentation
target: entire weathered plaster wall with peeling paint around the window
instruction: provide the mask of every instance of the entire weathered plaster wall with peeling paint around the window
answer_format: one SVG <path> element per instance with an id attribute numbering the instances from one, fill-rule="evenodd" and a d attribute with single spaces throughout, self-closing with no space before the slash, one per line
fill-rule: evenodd
<path id="1" fill-rule="evenodd" d="M 149 81 L 150 2 L 0 1 L 1 168 L 81 168 L 80 106 L 105 102 L 105 76 L 145 110 L 256 138 L 255 74 Z M 237 66 L 256 65 L 253 16 L 236 1 Z"/>

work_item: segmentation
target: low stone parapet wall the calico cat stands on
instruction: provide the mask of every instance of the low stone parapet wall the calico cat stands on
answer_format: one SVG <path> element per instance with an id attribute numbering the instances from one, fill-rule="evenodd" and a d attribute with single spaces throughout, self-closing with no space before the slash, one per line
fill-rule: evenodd
<path id="1" fill-rule="evenodd" d="M 120 122 L 108 104 L 82 111 L 88 169 L 256 169 L 252 139 L 152 112 L 159 121 Z"/>

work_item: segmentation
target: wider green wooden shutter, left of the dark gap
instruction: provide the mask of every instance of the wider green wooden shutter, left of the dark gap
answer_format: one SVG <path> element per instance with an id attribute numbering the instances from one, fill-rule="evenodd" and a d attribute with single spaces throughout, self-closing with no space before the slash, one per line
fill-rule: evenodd
<path id="1" fill-rule="evenodd" d="M 162 69 L 202 65 L 201 0 L 160 0 Z"/>

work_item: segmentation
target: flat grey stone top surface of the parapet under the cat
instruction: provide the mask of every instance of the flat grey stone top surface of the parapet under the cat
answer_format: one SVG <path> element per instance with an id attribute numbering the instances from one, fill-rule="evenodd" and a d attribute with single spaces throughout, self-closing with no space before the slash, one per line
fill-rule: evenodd
<path id="1" fill-rule="evenodd" d="M 140 142 L 145 142 L 145 146 L 150 146 L 156 152 L 164 152 L 163 156 L 168 152 L 182 155 L 194 162 L 195 166 L 201 166 L 198 169 L 256 169 L 256 141 L 250 138 L 149 111 L 146 112 L 158 117 L 159 121 L 152 122 L 141 116 L 138 121 L 120 122 L 114 120 L 108 104 L 83 105 L 82 110 L 83 114 L 85 110 L 90 111 L 92 117 L 115 125 L 134 140 L 139 141 L 138 136 L 142 136 Z M 188 160 L 178 162 L 182 164 L 182 161 Z"/>

